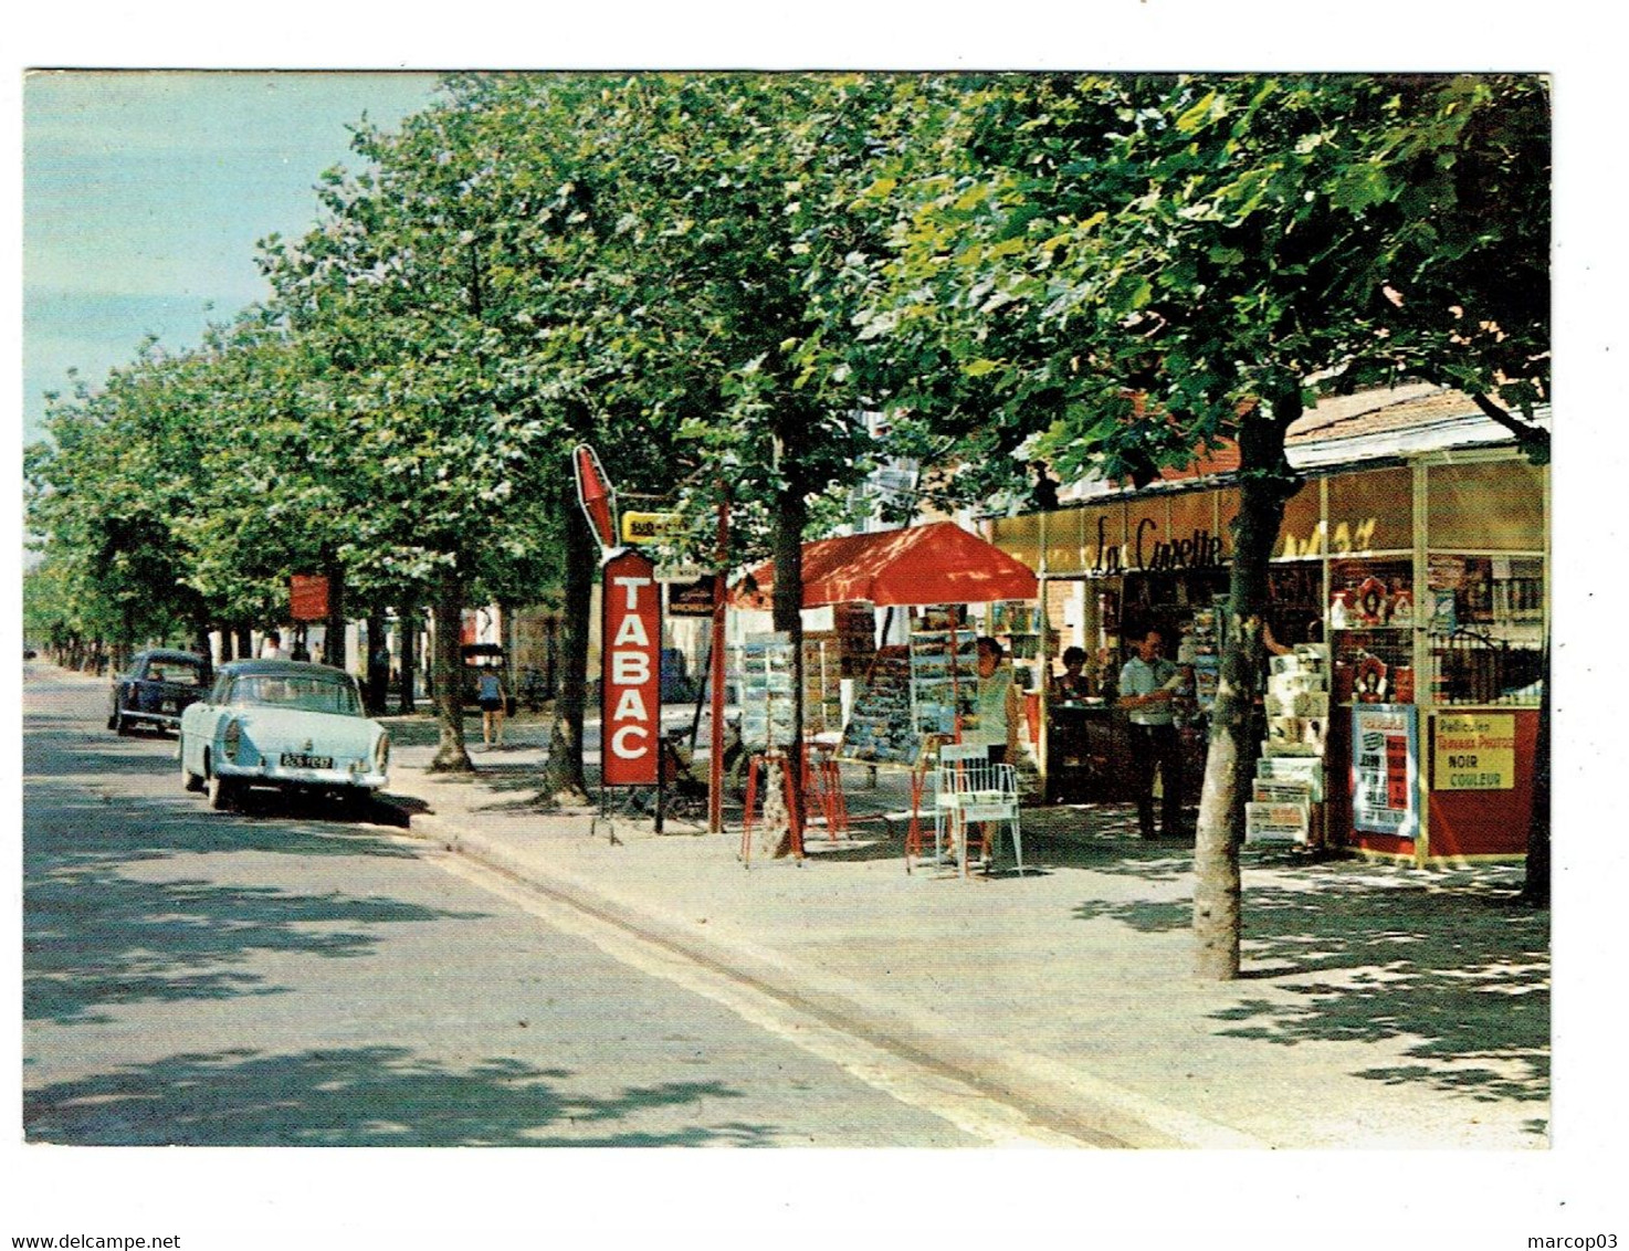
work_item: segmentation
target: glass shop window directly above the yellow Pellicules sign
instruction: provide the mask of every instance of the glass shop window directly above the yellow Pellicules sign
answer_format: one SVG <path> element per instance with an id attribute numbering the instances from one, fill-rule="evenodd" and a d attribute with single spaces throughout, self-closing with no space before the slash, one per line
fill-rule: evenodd
<path id="1" fill-rule="evenodd" d="M 1432 699 L 1440 705 L 1536 705 L 1544 676 L 1544 562 L 1518 555 L 1427 557 Z"/>

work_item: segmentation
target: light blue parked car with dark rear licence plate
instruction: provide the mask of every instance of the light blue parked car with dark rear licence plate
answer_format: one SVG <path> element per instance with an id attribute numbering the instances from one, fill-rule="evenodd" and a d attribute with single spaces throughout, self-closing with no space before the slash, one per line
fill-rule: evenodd
<path id="1" fill-rule="evenodd" d="M 212 808 L 249 787 L 365 798 L 388 779 L 391 736 L 362 710 L 357 679 L 327 665 L 239 660 L 181 713 L 181 780 Z"/>

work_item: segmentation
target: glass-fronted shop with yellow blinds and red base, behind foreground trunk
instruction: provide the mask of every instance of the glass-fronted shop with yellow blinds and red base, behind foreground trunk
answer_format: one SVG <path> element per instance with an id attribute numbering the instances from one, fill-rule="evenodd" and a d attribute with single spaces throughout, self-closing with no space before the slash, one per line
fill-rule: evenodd
<path id="1" fill-rule="evenodd" d="M 1277 642 L 1328 647 L 1323 834 L 1416 863 L 1520 857 L 1549 611 L 1549 474 L 1508 446 L 1324 461 L 1302 464 L 1267 611 Z M 1121 798 L 1111 679 L 1148 629 L 1194 671 L 1188 749 L 1202 761 L 1236 511 L 1235 487 L 1202 479 L 990 525 L 990 541 L 1039 577 L 1049 629 L 1038 687 L 1065 647 L 1088 653 L 1096 684 L 1080 707 L 1043 699 L 1051 798 Z"/>

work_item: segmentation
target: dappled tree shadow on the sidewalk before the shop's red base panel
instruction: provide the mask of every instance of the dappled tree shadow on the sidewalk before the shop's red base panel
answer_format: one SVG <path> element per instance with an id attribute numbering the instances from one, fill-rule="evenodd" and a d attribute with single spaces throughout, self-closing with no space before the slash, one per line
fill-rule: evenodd
<path id="1" fill-rule="evenodd" d="M 1549 1098 L 1548 915 L 1513 901 L 1508 871 L 1451 881 L 1352 865 L 1308 867 L 1276 884 L 1245 876 L 1241 997 L 1218 1033 L 1280 1046 L 1398 1042 L 1419 1064 L 1360 1070 L 1479 1101 Z M 1192 925 L 1192 901 L 1091 901 L 1145 933 Z M 1243 989 L 1245 984 L 1236 984 Z"/>

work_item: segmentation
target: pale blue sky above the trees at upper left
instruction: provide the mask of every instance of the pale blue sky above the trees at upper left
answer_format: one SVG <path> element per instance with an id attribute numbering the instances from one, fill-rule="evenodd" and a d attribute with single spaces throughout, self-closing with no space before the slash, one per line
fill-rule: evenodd
<path id="1" fill-rule="evenodd" d="M 143 336 L 195 344 L 261 298 L 256 241 L 316 220 L 347 125 L 394 127 L 428 73 L 50 72 L 23 85 L 23 432 L 78 368 L 91 384 Z"/>

